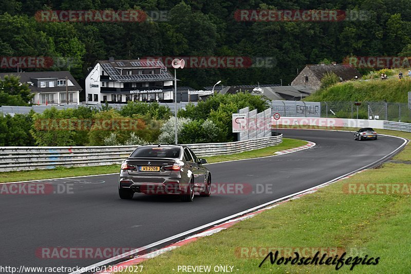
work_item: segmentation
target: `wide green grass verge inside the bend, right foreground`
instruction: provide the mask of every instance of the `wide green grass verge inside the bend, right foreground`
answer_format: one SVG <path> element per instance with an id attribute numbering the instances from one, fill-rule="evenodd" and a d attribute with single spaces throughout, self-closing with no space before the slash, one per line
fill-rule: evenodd
<path id="1" fill-rule="evenodd" d="M 411 139 L 411 133 L 378 132 Z M 409 147 L 407 145 L 396 158 L 411 160 Z M 377 265 L 357 265 L 352 271 L 350 266 L 344 265 L 339 272 L 407 273 L 408 258 L 411 257 L 410 195 L 346 194 L 344 186 L 369 182 L 409 185 L 410 178 L 410 165 L 385 163 L 378 169 L 335 182 L 229 229 L 145 261 L 142 263 L 144 272 L 173 273 L 177 272 L 179 265 L 211 265 L 212 268 L 231 265 L 237 273 L 328 273 L 335 271 L 335 265 L 271 265 L 268 260 L 259 268 L 267 252 L 257 254 L 255 250 L 248 249 L 249 252 L 242 253 L 241 257 L 239 250 L 241 247 L 266 247 L 274 251 L 285 247 L 300 250 L 304 247 L 314 250 L 330 247 L 346 250 L 346 257 L 380 257 Z"/>

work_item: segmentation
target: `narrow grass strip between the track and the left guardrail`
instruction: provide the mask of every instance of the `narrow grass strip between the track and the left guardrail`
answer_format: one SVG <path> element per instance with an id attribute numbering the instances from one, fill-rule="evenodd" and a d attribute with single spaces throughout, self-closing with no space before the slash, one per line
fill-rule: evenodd
<path id="1" fill-rule="evenodd" d="M 283 142 L 281 144 L 277 144 L 272 147 L 237 153 L 233 155 L 211 156 L 211 157 L 207 157 L 207 161 L 210 163 L 213 163 L 213 162 L 228 161 L 228 160 L 238 160 L 238 159 L 270 156 L 270 155 L 274 155 L 274 153 L 277 151 L 300 147 L 301 145 L 305 145 L 305 144 L 307 144 L 306 141 L 283 138 Z M 64 178 L 64 177 L 72 177 L 72 176 L 108 174 L 108 173 L 119 172 L 119 170 L 120 170 L 120 165 L 110 165 L 110 166 L 73 167 L 73 168 L 58 167 L 56 169 L 48 169 L 48 170 L 46 169 L 46 170 L 0 172 L 0 183 L 12 182 L 12 181 L 25 181 L 25 180 L 40 180 L 40 179 L 50 179 L 50 178 Z"/>

